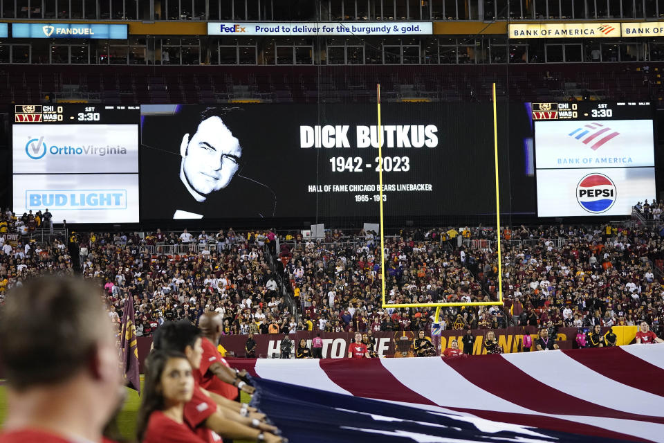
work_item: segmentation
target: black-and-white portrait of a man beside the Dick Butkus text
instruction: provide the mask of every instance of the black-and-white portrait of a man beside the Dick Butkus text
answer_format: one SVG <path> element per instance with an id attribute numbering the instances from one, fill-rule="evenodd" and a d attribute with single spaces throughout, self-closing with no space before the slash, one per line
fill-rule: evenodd
<path id="1" fill-rule="evenodd" d="M 159 194 L 163 205 L 153 206 L 148 218 L 201 219 L 227 217 L 273 217 L 275 195 L 268 186 L 241 174 L 245 161 L 242 133 L 247 123 L 242 121 L 239 108 L 181 107 L 178 117 L 179 171 L 171 175 L 175 156 L 161 159 L 167 170 L 157 183 L 149 183 L 153 195 Z M 163 116 L 149 116 L 149 118 Z M 158 127 L 151 126 L 151 130 Z M 151 134 L 143 131 L 142 144 L 148 149 L 156 144 Z M 159 140 L 158 143 L 167 143 Z M 172 147 L 169 148 L 172 152 Z M 154 153 L 151 153 L 154 156 Z M 161 163 L 161 162 L 160 162 Z M 145 186 L 145 185 L 144 185 Z M 155 195 L 156 197 L 156 195 Z"/>

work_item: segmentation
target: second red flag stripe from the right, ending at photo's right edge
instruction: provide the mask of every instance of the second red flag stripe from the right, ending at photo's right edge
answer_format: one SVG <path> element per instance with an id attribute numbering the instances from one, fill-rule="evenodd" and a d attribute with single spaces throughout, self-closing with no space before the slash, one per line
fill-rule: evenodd
<path id="1" fill-rule="evenodd" d="M 556 377 L 556 374 L 533 374 L 541 377 L 543 381 L 533 378 L 531 374 L 520 370 L 500 355 L 484 357 L 483 365 L 478 365 L 474 359 L 450 359 L 451 368 L 459 372 L 466 380 L 475 386 L 491 392 L 510 403 L 524 408 L 547 414 L 589 415 L 638 420 L 640 422 L 653 422 L 664 424 L 663 417 L 652 417 L 626 413 L 621 410 L 606 408 L 591 403 L 573 395 L 560 392 L 546 385 L 546 377 Z M 510 380 L 512 382 L 505 383 Z"/>

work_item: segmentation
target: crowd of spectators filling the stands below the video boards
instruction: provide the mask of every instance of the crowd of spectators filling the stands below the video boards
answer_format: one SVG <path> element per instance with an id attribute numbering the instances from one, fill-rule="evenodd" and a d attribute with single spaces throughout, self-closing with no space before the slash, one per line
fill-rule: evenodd
<path id="1" fill-rule="evenodd" d="M 655 221 L 659 207 L 642 205 L 653 208 Z M 500 235 L 505 306 L 445 308 L 444 328 L 610 327 L 645 320 L 662 334 L 662 226 L 519 226 Z M 381 308 L 380 238 L 363 230 L 331 230 L 317 240 L 232 228 L 196 235 L 75 233 L 46 244 L 24 237 L 10 244 L 0 234 L 0 296 L 31 275 L 72 273 L 68 241 L 77 246 L 83 275 L 103 285 L 116 323 L 124 299 L 133 298 L 139 335 L 167 320 L 196 323 L 210 311 L 223 317 L 223 334 L 419 331 L 433 321 L 432 308 Z M 169 249 L 174 245 L 180 246 Z M 388 304 L 497 299 L 492 228 L 402 230 L 386 237 L 385 248 Z"/>

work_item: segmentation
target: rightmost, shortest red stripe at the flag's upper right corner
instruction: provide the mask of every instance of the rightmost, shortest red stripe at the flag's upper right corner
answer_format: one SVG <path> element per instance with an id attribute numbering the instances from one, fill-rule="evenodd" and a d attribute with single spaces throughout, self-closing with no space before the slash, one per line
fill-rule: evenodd
<path id="1" fill-rule="evenodd" d="M 664 379 L 664 370 L 623 351 L 620 347 L 588 349 L 584 352 L 563 352 L 566 356 L 611 380 L 664 397 L 664 383 L 654 382 L 654 380 Z M 629 368 L 629 372 L 626 372 L 625 368 Z"/>

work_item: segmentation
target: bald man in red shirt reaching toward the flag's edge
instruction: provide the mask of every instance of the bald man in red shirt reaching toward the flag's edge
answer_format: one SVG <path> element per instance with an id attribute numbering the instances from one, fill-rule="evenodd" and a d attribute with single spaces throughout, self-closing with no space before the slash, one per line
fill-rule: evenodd
<path id="1" fill-rule="evenodd" d="M 223 333 L 223 318 L 216 312 L 206 312 L 199 318 L 203 333 L 203 359 L 201 359 L 201 388 L 214 392 L 230 400 L 239 399 L 238 388 L 248 394 L 254 393 L 253 386 L 243 381 L 247 372 L 230 368 L 216 346 Z"/>

